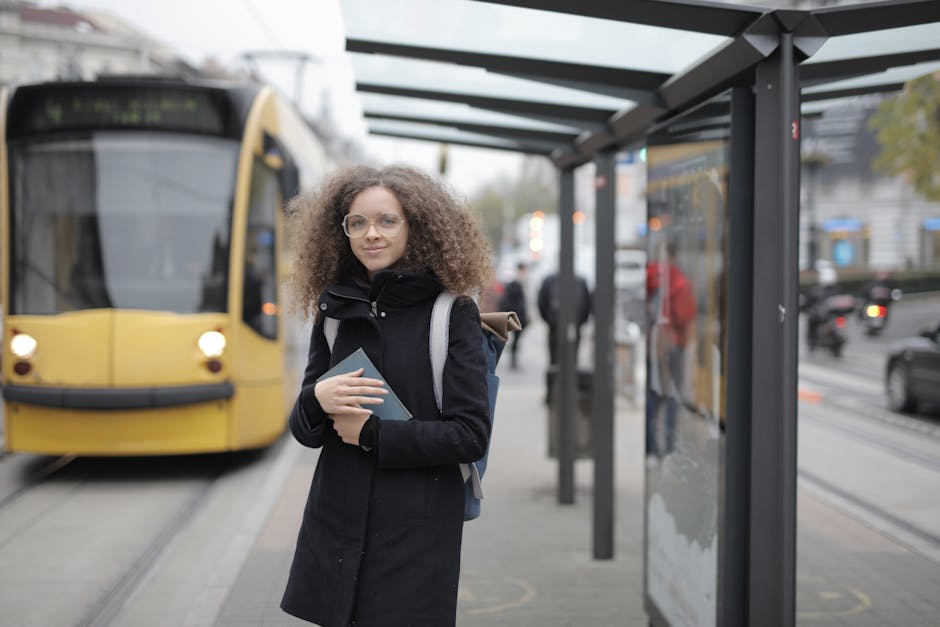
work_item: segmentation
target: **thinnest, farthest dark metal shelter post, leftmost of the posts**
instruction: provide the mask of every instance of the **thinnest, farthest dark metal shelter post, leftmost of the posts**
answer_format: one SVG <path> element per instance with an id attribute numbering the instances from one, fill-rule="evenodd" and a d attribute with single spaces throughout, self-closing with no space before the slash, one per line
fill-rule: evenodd
<path id="1" fill-rule="evenodd" d="M 574 294 L 574 169 L 561 171 L 558 199 L 560 243 L 558 249 L 558 289 Z M 558 403 L 558 502 L 574 503 L 574 459 L 577 444 L 574 352 L 575 299 L 560 298 L 558 304 L 558 377 L 555 381 Z"/>

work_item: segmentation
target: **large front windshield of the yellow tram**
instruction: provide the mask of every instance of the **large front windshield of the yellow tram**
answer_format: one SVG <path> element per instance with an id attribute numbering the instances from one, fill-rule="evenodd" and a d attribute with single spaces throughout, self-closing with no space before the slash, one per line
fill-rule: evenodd
<path id="1" fill-rule="evenodd" d="M 99 132 L 10 145 L 10 313 L 226 310 L 231 139 Z"/>

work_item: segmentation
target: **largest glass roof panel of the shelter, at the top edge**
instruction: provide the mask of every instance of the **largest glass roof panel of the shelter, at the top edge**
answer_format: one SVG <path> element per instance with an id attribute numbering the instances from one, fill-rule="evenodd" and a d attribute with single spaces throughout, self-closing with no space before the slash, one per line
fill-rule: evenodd
<path id="1" fill-rule="evenodd" d="M 709 56 L 729 40 L 470 0 L 340 0 L 340 4 L 346 35 L 353 39 L 666 74 Z"/>

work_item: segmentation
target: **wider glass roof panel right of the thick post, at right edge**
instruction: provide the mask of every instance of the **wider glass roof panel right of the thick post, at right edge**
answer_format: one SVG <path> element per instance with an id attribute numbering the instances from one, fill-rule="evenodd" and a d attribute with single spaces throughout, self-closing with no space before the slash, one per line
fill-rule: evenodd
<path id="1" fill-rule="evenodd" d="M 940 48 L 940 23 L 832 37 L 804 65 Z"/>

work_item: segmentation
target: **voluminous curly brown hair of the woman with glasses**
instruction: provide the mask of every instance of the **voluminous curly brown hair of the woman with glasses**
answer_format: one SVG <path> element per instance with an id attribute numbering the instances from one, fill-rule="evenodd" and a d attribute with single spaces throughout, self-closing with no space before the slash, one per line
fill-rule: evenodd
<path id="1" fill-rule="evenodd" d="M 392 192 L 408 220 L 408 246 L 396 267 L 431 272 L 444 289 L 457 294 L 483 290 L 490 280 L 489 244 L 478 220 L 450 187 L 410 166 L 353 165 L 337 170 L 287 206 L 296 251 L 291 291 L 300 311 L 315 315 L 320 294 L 343 277 L 366 277 L 342 221 L 353 199 L 371 187 Z"/>

